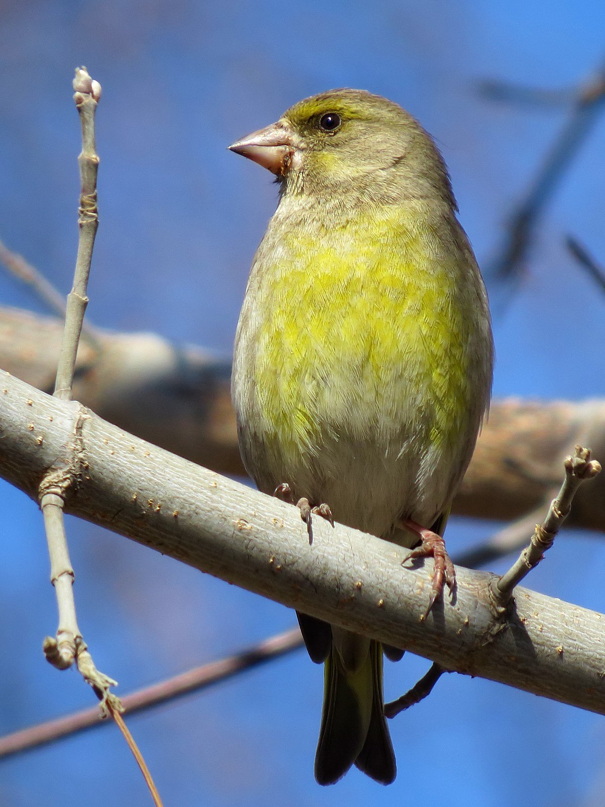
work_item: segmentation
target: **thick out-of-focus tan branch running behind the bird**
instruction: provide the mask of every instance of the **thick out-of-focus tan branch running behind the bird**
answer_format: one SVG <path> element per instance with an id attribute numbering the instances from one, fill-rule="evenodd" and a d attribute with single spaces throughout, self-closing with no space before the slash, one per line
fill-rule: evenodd
<path id="1" fill-rule="evenodd" d="M 77 400 L 174 454 L 219 473 L 245 474 L 228 358 L 178 347 L 151 333 L 96 331 L 95 336 L 98 352 L 87 344 L 78 351 Z M 57 320 L 0 307 L 5 370 L 48 391 L 59 343 Z M 605 457 L 605 400 L 494 401 L 453 512 L 510 521 L 542 508 L 560 483 L 563 458 L 577 443 Z M 605 531 L 605 475 L 591 490 L 579 491 L 568 524 Z"/>

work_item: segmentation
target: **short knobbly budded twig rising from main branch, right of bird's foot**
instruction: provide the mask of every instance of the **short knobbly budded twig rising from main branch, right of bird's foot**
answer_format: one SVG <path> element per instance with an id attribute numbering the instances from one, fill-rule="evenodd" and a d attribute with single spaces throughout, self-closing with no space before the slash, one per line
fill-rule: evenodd
<path id="1" fill-rule="evenodd" d="M 507 600 L 513 588 L 538 565 L 546 550 L 553 546 L 553 541 L 570 512 L 571 502 L 578 487 L 582 482 L 586 482 L 586 479 L 592 479 L 599 474 L 600 470 L 599 462 L 590 459 L 590 450 L 577 445 L 574 457 L 565 460 L 565 480 L 559 495 L 550 504 L 545 521 L 541 525 L 536 525 L 529 546 L 521 552 L 507 573 L 492 585 L 494 594 L 499 600 Z"/>

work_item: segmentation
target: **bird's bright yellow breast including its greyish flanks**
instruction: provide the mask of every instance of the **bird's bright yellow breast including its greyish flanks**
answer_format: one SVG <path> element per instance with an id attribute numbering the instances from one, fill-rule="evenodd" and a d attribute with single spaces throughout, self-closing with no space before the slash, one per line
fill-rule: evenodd
<path id="1" fill-rule="evenodd" d="M 410 206 L 332 229 L 269 227 L 233 378 L 257 482 L 266 466 L 268 488 L 311 467 L 344 475 L 372 451 L 379 465 L 406 452 L 419 466 L 436 451 L 462 457 L 489 390 L 478 284 L 466 242 L 444 238 Z"/>

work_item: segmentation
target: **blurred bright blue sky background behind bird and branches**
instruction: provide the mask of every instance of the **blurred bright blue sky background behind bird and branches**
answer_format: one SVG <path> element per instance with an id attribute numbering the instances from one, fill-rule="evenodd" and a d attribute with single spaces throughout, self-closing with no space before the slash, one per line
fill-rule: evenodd
<path id="1" fill-rule="evenodd" d="M 252 254 L 276 203 L 269 174 L 226 150 L 336 86 L 384 94 L 436 137 L 461 221 L 488 266 L 565 107 L 487 101 L 483 79 L 576 85 L 605 53 L 605 6 L 568 2 L 296 3 L 47 0 L 0 5 L 0 237 L 63 291 L 77 245 L 73 68 L 102 83 L 95 324 L 229 353 Z M 494 282 L 496 395 L 605 395 L 605 299 L 562 244 L 605 257 L 600 119 L 549 204 L 514 295 Z M 502 295 L 511 297 L 499 306 Z M 5 274 L 0 301 L 40 310 Z M 590 340 L 586 341 L 586 329 Z M 603 458 L 601 458 L 603 460 Z M 2 483 L 0 734 L 90 705 L 40 651 L 56 627 L 40 512 Z M 453 520 L 453 551 L 497 525 Z M 121 537 L 69 520 L 79 621 L 128 692 L 294 625 L 294 614 Z M 506 561 L 494 565 L 494 571 Z M 602 537 L 565 533 L 530 585 L 605 610 Z M 427 669 L 386 668 L 387 698 Z M 166 807 L 582 805 L 605 802 L 605 720 L 459 675 L 391 723 L 399 774 L 313 779 L 322 671 L 302 651 L 129 725 Z M 0 803 L 150 804 L 113 725 L 0 761 Z"/>

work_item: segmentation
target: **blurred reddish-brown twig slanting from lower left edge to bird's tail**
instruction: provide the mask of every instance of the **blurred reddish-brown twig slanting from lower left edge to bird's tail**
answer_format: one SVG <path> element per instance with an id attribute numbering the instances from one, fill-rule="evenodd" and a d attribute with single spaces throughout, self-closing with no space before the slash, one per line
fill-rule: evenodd
<path id="1" fill-rule="evenodd" d="M 173 678 L 123 696 L 125 713 L 131 715 L 146 711 L 156 705 L 164 705 L 170 700 L 198 692 L 212 684 L 218 684 L 233 675 L 252 667 L 258 667 L 301 647 L 303 647 L 303 637 L 300 635 L 298 627 L 287 630 L 285 633 L 278 633 L 238 654 L 227 656 L 226 659 L 203 664 L 201 667 L 195 667 L 181 675 L 175 675 Z M 72 734 L 79 734 L 81 731 L 97 725 L 106 725 L 106 720 L 103 719 L 99 710 L 93 707 L 81 709 L 79 712 L 65 715 L 65 717 L 57 717 L 39 725 L 32 725 L 28 729 L 15 731 L 13 734 L 6 734 L 5 737 L 0 738 L 0 759 L 46 745 Z"/>

